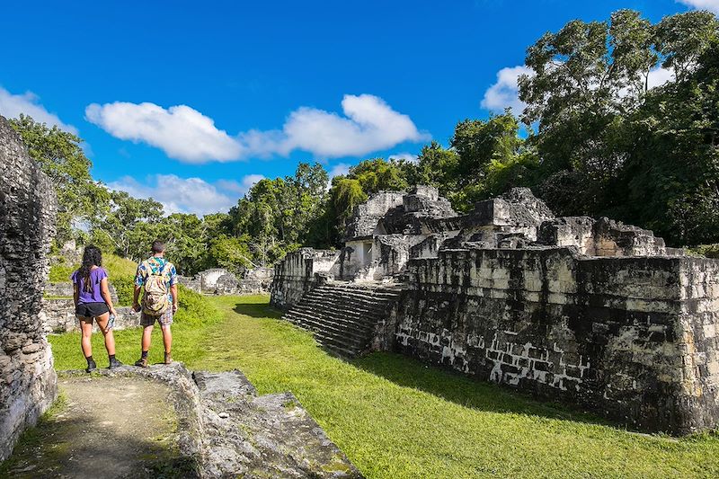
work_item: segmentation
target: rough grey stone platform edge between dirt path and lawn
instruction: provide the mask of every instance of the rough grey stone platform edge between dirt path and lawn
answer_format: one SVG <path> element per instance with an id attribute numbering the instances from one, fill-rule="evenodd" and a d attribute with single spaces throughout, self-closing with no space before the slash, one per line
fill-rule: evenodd
<path id="1" fill-rule="evenodd" d="M 180 452 L 200 477 L 362 477 L 292 393 L 258 395 L 236 369 L 192 372 L 175 362 L 98 371 L 170 387 Z M 78 370 L 60 374 L 87 376 Z"/>

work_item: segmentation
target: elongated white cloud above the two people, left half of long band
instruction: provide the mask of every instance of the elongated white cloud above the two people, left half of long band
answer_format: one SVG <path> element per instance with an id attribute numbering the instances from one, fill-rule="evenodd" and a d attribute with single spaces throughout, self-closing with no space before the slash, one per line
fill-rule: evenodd
<path id="1" fill-rule="evenodd" d="M 165 110 L 155 103 L 93 103 L 85 117 L 113 137 L 143 141 L 168 155 L 188 163 L 207 160 L 233 160 L 242 154 L 242 146 L 215 122 L 189 106 Z"/>

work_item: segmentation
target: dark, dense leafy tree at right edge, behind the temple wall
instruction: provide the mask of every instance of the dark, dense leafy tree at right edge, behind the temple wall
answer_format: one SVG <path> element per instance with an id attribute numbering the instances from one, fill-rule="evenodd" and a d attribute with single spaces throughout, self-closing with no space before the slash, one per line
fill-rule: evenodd
<path id="1" fill-rule="evenodd" d="M 719 40 L 628 121 L 619 213 L 673 244 L 719 242 Z M 621 194 L 624 192 L 624 194 Z"/>

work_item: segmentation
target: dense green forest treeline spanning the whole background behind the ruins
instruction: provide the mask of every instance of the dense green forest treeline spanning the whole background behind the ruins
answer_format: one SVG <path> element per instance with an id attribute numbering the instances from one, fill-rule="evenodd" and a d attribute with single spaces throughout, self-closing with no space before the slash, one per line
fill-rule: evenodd
<path id="1" fill-rule="evenodd" d="M 467 211 L 528 186 L 558 215 L 615 217 L 673 246 L 719 243 L 719 21 L 689 12 L 652 24 L 621 10 L 564 25 L 527 50 L 524 111 L 461 120 L 416 161 L 372 158 L 330 179 L 320 163 L 253 185 L 228 213 L 164 215 L 155 200 L 91 176 L 82 139 L 12 120 L 57 185 L 57 244 L 92 242 L 138 260 L 164 238 L 182 274 L 276 262 L 300 245 L 336 247 L 353 208 L 380 190 L 431 184 Z M 669 81 L 653 85 L 653 74 Z M 516 115 L 515 115 L 516 114 Z M 328 188 L 329 183 L 329 188 Z"/>

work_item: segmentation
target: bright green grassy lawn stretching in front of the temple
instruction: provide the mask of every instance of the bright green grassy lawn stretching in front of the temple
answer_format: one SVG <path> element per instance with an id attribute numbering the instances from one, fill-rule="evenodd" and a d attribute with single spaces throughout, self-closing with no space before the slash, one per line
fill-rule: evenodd
<path id="1" fill-rule="evenodd" d="M 628 432 L 395 354 L 344 362 L 278 321 L 267 297 L 209 300 L 223 318 L 178 323 L 173 356 L 194 369 L 240 368 L 260 394 L 292 391 L 370 478 L 719 477 L 716 434 Z M 119 358 L 136 359 L 138 331 L 117 336 Z M 77 334 L 50 341 L 58 369 L 84 367 Z M 159 361 L 159 336 L 153 344 Z"/>

